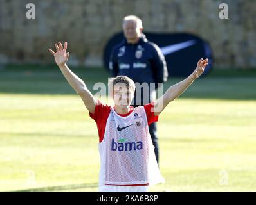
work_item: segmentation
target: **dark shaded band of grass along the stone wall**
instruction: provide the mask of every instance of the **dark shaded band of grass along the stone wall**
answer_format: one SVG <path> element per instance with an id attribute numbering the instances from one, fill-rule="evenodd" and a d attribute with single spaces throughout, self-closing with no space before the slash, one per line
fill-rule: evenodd
<path id="1" fill-rule="evenodd" d="M 75 67 L 72 69 L 93 94 L 95 83 L 107 85 L 110 73 L 103 68 Z M 184 78 L 169 78 L 163 90 Z M 205 78 L 197 79 L 181 98 L 256 100 L 256 70 L 213 70 Z M 59 68 L 50 66 L 10 65 L 0 71 L 0 94 L 76 95 Z"/>

